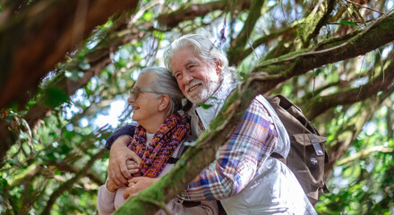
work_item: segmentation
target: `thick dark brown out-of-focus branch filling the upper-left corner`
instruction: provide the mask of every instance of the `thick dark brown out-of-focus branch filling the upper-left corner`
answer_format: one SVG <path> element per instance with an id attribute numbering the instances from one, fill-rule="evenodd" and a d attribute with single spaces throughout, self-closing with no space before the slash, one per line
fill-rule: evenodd
<path id="1" fill-rule="evenodd" d="M 15 100 L 23 105 L 24 92 L 37 89 L 39 80 L 85 35 L 110 15 L 137 4 L 136 0 L 43 0 L 5 23 L 0 29 L 0 108 Z"/>

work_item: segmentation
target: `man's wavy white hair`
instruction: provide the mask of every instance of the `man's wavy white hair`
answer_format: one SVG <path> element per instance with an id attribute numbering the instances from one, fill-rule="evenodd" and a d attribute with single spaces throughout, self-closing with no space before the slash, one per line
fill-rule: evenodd
<path id="1" fill-rule="evenodd" d="M 228 60 L 225 55 L 215 47 L 210 39 L 198 34 L 186 34 L 179 39 L 174 40 L 164 52 L 164 64 L 166 65 L 169 72 L 174 73 L 171 61 L 174 56 L 174 52 L 179 48 L 193 47 L 194 54 L 201 57 L 210 63 L 215 63 L 214 59 L 221 62 L 223 66 L 223 72 L 220 73 L 222 81 L 232 82 L 238 79 L 236 68 L 234 66 L 228 66 Z"/>

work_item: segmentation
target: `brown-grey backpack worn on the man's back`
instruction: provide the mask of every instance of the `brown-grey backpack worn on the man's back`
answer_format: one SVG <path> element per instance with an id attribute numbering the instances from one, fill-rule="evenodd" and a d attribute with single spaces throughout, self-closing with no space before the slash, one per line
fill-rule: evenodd
<path id="1" fill-rule="evenodd" d="M 277 112 L 290 138 L 287 159 L 274 152 L 271 157 L 280 159 L 290 168 L 303 187 L 309 202 L 314 205 L 321 191 L 330 193 L 324 183 L 324 164 L 329 156 L 324 149 L 327 138 L 322 137 L 302 110 L 282 95 L 267 98 Z"/>

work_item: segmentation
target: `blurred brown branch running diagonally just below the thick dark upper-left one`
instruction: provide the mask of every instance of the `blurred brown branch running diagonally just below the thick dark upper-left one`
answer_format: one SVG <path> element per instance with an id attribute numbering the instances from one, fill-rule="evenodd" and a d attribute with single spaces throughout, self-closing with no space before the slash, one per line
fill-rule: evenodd
<path id="1" fill-rule="evenodd" d="M 124 22 L 123 20 L 119 22 Z M 146 22 L 144 26 L 150 26 L 151 22 Z M 120 47 L 125 43 L 132 41 L 133 39 L 141 39 L 141 37 L 145 37 L 145 33 L 143 30 L 140 30 L 136 27 L 131 29 L 127 29 L 126 24 L 115 24 L 115 28 L 110 30 L 107 33 L 105 39 L 103 39 L 90 53 L 87 54 L 85 60 L 88 64 L 90 64 L 90 69 L 87 71 L 83 71 L 83 77 L 79 79 L 77 82 L 65 77 L 64 71 L 59 72 L 54 80 L 47 83 L 47 86 L 42 90 L 42 95 L 37 99 L 36 104 L 31 106 L 28 110 L 26 116 L 26 121 L 30 125 L 30 127 L 35 127 L 37 122 L 48 115 L 48 113 L 52 110 L 53 107 L 48 107 L 45 104 L 46 98 L 46 90 L 53 87 L 56 87 L 59 90 L 62 90 L 67 93 L 67 95 L 71 96 L 75 93 L 76 90 L 85 86 L 90 79 L 99 74 L 107 64 L 111 63 L 110 52 L 112 47 Z M 122 35 L 119 35 L 119 31 L 125 31 Z M 113 50 L 112 50 L 113 51 Z M 70 71 L 79 70 L 78 64 L 81 63 L 81 60 L 74 60 L 70 64 L 65 64 L 64 68 L 67 68 Z M 0 118 L 2 118 L 0 116 Z M 2 134 L 2 142 L 0 144 L 0 159 L 3 159 L 6 151 L 11 148 L 14 142 L 16 142 L 19 131 L 18 126 L 15 124 L 9 124 L 5 120 L 0 121 L 0 134 Z M 3 163 L 0 162 L 0 167 L 3 166 Z"/>

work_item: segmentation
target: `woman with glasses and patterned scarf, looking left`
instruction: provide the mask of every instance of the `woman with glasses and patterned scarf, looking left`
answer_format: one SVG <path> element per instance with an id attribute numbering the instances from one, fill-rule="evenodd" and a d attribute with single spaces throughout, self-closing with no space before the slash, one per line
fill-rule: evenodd
<path id="1" fill-rule="evenodd" d="M 128 145 L 140 160 L 127 163 L 133 179 L 152 178 L 151 185 L 160 176 L 174 167 L 171 157 L 178 153 L 190 125 L 178 114 L 182 107 L 183 94 L 175 78 L 161 67 L 148 67 L 141 71 L 127 101 L 133 107 L 133 121 L 138 125 Z M 133 180 L 132 179 L 132 180 Z M 119 208 L 130 193 L 135 193 L 133 182 L 130 187 L 118 186 L 111 179 L 99 187 L 97 200 L 100 215 L 112 214 Z M 218 214 L 217 202 L 201 202 L 197 206 L 184 206 L 174 199 L 167 207 L 174 214 Z M 163 211 L 159 211 L 161 213 Z"/>

